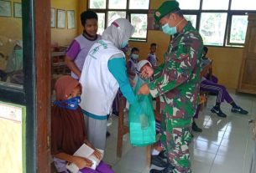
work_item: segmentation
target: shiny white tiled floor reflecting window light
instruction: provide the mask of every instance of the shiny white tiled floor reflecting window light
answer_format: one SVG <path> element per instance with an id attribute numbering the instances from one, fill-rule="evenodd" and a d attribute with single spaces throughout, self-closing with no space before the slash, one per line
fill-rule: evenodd
<path id="1" fill-rule="evenodd" d="M 253 153 L 253 140 L 248 120 L 256 117 L 256 97 L 248 94 L 232 94 L 232 98 L 249 111 L 248 115 L 232 114 L 229 104 L 222 104 L 227 118 L 219 118 L 210 109 L 216 98 L 211 96 L 207 107 L 196 121 L 202 133 L 194 133 L 190 145 L 193 173 L 248 173 Z M 118 117 L 112 116 L 108 130 L 107 150 L 104 160 L 116 173 L 149 173 L 146 166 L 145 148 L 129 144 L 128 135 L 123 137 L 123 156 L 116 156 Z M 151 168 L 157 168 L 154 165 Z"/>

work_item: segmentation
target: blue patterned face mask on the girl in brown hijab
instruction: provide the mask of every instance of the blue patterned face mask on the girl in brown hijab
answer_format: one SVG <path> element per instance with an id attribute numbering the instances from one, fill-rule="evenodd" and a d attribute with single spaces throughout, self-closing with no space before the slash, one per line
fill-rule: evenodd
<path id="1" fill-rule="evenodd" d="M 60 108 L 76 110 L 80 102 L 81 102 L 81 97 L 77 96 L 77 97 L 73 97 L 71 99 L 65 99 L 62 101 L 56 100 L 54 104 L 59 106 Z"/>

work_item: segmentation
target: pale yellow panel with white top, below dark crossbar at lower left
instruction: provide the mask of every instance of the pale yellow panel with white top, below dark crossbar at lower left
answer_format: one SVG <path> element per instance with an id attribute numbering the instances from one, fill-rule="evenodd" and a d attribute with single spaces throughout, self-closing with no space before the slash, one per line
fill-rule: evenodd
<path id="1" fill-rule="evenodd" d="M 20 172 L 25 167 L 25 115 L 22 105 L 0 102 L 0 172 Z"/>

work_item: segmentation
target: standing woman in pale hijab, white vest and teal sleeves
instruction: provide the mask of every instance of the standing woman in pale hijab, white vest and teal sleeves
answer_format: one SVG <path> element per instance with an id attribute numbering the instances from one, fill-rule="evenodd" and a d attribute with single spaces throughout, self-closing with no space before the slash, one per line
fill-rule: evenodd
<path id="1" fill-rule="evenodd" d="M 106 146 L 107 114 L 112 111 L 118 88 L 129 104 L 138 104 L 129 84 L 122 50 L 128 46 L 133 32 L 127 19 L 115 20 L 102 33 L 102 40 L 91 47 L 81 73 L 80 105 L 86 118 L 88 140 L 102 150 Z"/>

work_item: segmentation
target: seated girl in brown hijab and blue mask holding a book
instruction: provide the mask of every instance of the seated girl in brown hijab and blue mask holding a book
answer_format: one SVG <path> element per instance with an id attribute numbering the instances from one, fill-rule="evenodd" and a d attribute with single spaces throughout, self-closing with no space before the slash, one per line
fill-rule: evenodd
<path id="1" fill-rule="evenodd" d="M 55 84 L 56 100 L 51 114 L 51 155 L 54 157 L 58 172 L 68 173 L 65 165 L 74 163 L 82 173 L 113 173 L 104 162 L 100 162 L 96 170 L 91 170 L 91 160 L 73 156 L 81 145 L 86 143 L 96 150 L 86 140 L 86 127 L 80 103 L 81 84 L 71 76 L 62 76 Z M 99 150 L 94 154 L 102 155 Z"/>

